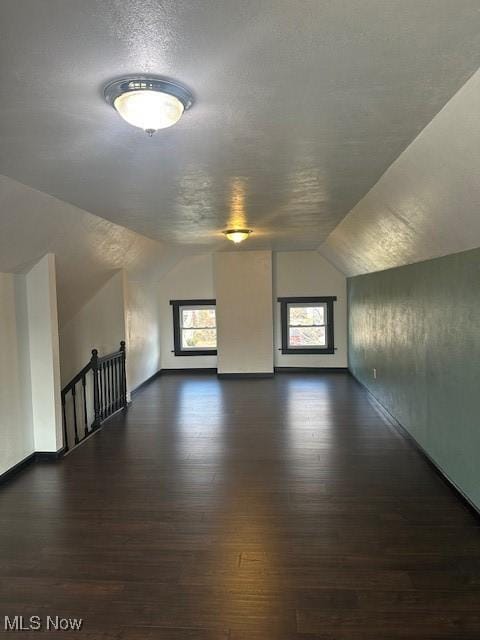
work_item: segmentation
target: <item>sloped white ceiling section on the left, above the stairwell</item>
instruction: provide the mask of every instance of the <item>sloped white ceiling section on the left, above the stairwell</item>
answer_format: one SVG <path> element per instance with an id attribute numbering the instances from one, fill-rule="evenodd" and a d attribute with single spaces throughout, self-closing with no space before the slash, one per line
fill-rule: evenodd
<path id="1" fill-rule="evenodd" d="M 0 176 L 0 272 L 24 273 L 54 253 L 63 326 L 118 269 L 159 280 L 187 254 Z"/>

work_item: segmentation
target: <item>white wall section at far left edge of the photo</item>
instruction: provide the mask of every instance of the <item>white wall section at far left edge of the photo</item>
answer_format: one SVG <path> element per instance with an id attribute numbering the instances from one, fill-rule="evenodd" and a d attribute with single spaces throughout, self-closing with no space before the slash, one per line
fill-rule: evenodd
<path id="1" fill-rule="evenodd" d="M 0 474 L 34 451 L 25 277 L 0 273 Z"/>

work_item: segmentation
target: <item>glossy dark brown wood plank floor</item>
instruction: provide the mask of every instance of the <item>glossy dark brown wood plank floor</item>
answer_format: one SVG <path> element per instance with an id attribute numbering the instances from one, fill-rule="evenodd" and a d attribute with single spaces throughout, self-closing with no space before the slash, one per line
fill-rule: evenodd
<path id="1" fill-rule="evenodd" d="M 480 638 L 479 520 L 346 374 L 161 377 L 126 418 L 3 486 L 0 513 L 0 625 Z"/>

